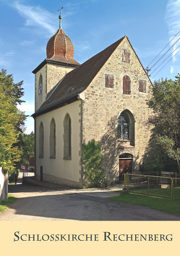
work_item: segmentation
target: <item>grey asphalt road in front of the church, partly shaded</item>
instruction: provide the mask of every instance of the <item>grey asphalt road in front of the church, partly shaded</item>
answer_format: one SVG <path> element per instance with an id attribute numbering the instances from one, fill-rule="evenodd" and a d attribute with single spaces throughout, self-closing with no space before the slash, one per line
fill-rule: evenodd
<path id="1" fill-rule="evenodd" d="M 179 215 L 107 199 L 119 195 L 114 191 L 57 191 L 18 183 L 9 186 L 9 193 L 19 199 L 0 212 L 0 220 L 180 220 Z"/>

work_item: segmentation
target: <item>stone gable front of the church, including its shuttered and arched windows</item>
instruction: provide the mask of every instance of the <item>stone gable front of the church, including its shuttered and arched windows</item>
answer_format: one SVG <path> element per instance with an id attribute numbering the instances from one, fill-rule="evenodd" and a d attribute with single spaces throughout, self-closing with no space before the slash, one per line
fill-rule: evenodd
<path id="1" fill-rule="evenodd" d="M 100 143 L 106 159 L 103 167 L 106 173 L 110 172 L 110 180 L 110 170 L 117 170 L 115 155 L 138 155 L 138 164 L 145 152 L 150 138 L 145 127 L 150 115 L 146 104 L 150 85 L 126 36 L 83 91 L 82 141 L 95 139 Z"/>

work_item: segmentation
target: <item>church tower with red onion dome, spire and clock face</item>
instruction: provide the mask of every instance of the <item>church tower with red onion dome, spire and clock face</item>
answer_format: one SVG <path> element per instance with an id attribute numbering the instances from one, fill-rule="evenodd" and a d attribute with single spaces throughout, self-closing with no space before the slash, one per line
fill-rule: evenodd
<path id="1" fill-rule="evenodd" d="M 48 94 L 64 75 L 80 64 L 74 60 L 74 45 L 61 28 L 49 39 L 46 46 L 46 59 L 33 70 L 35 74 L 35 111 L 46 101 Z"/>

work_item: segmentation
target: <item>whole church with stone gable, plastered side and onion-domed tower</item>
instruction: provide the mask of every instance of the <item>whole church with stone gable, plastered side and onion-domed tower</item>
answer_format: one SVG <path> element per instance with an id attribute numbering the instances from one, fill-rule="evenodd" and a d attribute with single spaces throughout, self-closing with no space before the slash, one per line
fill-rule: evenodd
<path id="1" fill-rule="evenodd" d="M 95 139 L 109 183 L 137 172 L 150 139 L 151 81 L 124 36 L 82 65 L 61 26 L 35 74 L 35 176 L 82 187 L 83 144 Z"/>

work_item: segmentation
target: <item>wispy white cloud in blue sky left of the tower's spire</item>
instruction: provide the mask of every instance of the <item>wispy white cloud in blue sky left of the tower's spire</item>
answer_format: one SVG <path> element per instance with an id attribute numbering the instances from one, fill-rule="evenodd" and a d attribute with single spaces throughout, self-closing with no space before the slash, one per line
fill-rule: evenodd
<path id="1" fill-rule="evenodd" d="M 25 18 L 26 26 L 33 26 L 45 30 L 51 36 L 56 32 L 55 17 L 42 7 L 28 6 L 15 1 L 13 7 Z M 56 18 L 57 20 L 57 18 Z M 41 31 L 42 32 L 42 31 Z"/>

